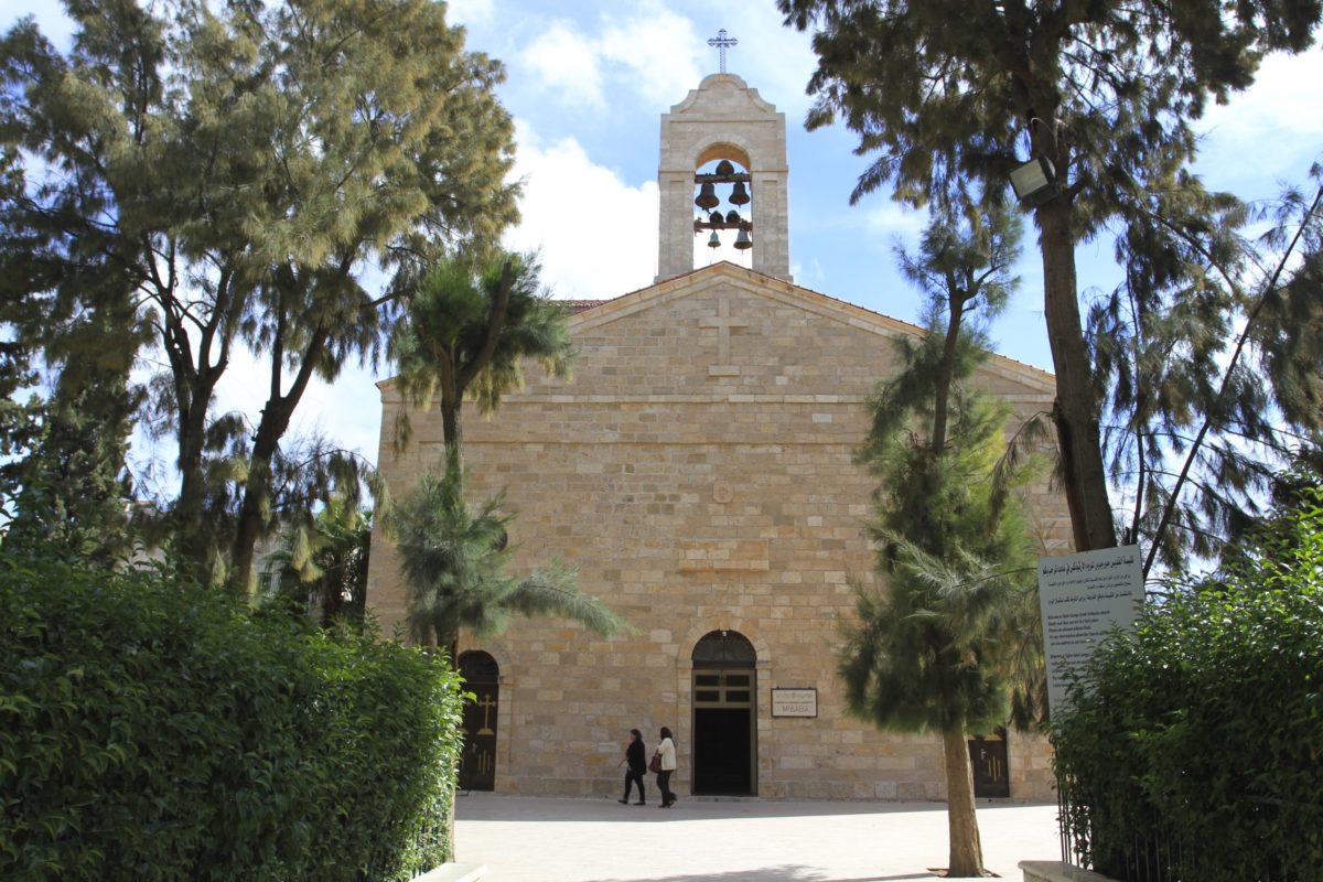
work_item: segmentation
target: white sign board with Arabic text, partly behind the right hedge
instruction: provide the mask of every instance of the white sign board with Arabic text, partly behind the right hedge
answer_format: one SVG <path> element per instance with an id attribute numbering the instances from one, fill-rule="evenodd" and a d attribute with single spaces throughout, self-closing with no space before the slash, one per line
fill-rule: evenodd
<path id="1" fill-rule="evenodd" d="M 1066 673 L 1093 655 L 1115 627 L 1130 631 L 1144 599 L 1139 547 L 1039 558 L 1039 606 L 1048 661 L 1048 706 L 1066 703 Z"/>

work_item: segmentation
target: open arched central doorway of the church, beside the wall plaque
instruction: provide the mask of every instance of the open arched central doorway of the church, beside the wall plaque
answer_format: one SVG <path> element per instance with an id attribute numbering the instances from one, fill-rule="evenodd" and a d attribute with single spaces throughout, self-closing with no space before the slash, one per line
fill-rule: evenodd
<path id="1" fill-rule="evenodd" d="M 758 792 L 758 653 L 742 633 L 712 631 L 693 647 L 693 792 Z"/>

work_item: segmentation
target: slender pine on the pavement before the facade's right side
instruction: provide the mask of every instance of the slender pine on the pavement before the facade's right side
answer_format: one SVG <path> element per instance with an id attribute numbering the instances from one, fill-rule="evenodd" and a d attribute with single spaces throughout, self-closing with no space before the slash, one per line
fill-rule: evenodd
<path id="1" fill-rule="evenodd" d="M 953 877 L 983 875 L 967 733 L 1007 722 L 1033 692 L 1032 547 L 1003 405 L 968 387 L 982 327 L 1016 279 L 1019 221 L 938 218 L 902 268 L 927 295 L 927 333 L 872 402 L 860 459 L 878 479 L 875 540 L 885 587 L 857 588 L 840 674 L 852 714 L 935 730 L 946 768 Z"/>

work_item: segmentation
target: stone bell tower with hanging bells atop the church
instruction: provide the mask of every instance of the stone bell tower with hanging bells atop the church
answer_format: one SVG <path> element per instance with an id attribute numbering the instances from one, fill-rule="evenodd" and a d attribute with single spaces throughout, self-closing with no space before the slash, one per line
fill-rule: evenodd
<path id="1" fill-rule="evenodd" d="M 662 115 L 656 282 L 693 270 L 696 235 L 729 238 L 754 270 L 792 280 L 786 115 L 724 69 Z"/>

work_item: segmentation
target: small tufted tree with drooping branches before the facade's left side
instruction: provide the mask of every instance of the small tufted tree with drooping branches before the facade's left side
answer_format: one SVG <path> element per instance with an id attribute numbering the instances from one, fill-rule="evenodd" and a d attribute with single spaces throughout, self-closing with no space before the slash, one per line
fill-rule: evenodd
<path id="1" fill-rule="evenodd" d="M 491 413 L 534 360 L 565 376 L 574 357 L 565 308 L 552 300 L 529 255 L 507 254 L 480 271 L 438 266 L 407 305 L 397 337 L 400 385 L 419 407 L 437 402 L 446 444 L 442 473 L 427 473 L 390 522 L 409 584 L 410 636 L 454 656 L 460 629 L 500 632 L 511 615 L 561 615 L 598 633 L 627 628 L 601 600 L 579 592 L 576 574 L 553 561 L 525 578 L 507 570 L 512 551 L 503 496 L 470 506 L 460 463 L 460 407 L 468 395 Z M 406 436 L 407 427 L 405 426 Z"/>

